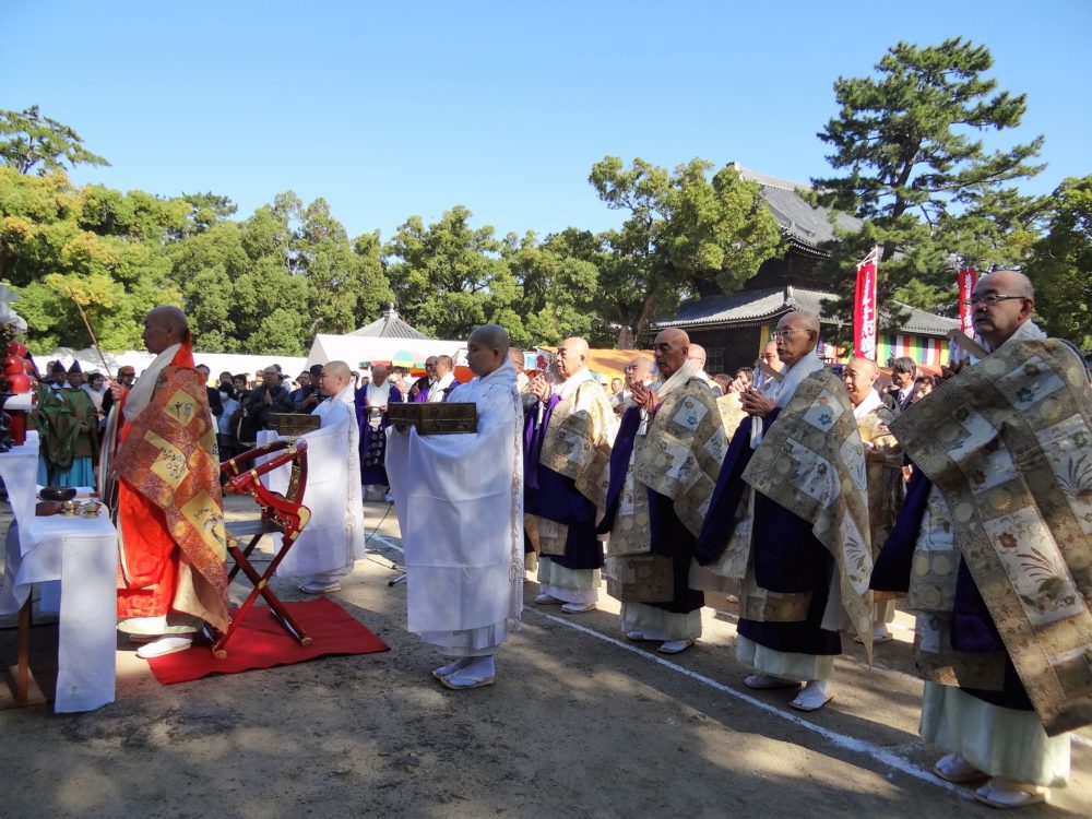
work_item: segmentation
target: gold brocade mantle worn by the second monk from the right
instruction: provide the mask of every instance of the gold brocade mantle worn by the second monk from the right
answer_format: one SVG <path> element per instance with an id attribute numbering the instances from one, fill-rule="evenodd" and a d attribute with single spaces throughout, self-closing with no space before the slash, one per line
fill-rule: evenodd
<path id="1" fill-rule="evenodd" d="M 743 478 L 755 491 L 811 524 L 812 534 L 838 569 L 838 585 L 828 598 L 823 628 L 838 628 L 841 612 L 835 607 L 841 605 L 870 653 L 873 600 L 868 581 L 873 555 L 865 474 L 864 447 L 845 389 L 832 372 L 819 370 L 800 383 L 765 431 Z M 753 499 L 745 494 L 745 502 L 750 506 Z M 753 519 L 752 508 L 748 519 Z M 770 621 L 805 619 L 810 595 L 774 594 L 755 582 L 749 539 L 740 613 Z M 737 551 L 724 556 L 734 561 L 736 571 L 743 543 L 733 538 L 728 549 Z"/>

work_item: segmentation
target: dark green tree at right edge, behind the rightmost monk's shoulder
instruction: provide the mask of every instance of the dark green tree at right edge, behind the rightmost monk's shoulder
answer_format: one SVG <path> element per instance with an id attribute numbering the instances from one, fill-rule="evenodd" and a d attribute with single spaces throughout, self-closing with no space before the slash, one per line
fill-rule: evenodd
<path id="1" fill-rule="evenodd" d="M 1063 181 L 1052 201 L 1048 232 L 1035 246 L 1028 274 L 1035 311 L 1051 335 L 1092 351 L 1092 175 Z"/>

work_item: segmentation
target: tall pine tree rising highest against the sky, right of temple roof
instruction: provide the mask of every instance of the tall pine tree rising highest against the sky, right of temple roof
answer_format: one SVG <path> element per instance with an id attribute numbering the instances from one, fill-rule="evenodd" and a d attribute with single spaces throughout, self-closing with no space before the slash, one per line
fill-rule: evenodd
<path id="1" fill-rule="evenodd" d="M 985 46 L 962 38 L 925 48 L 899 43 L 876 66 L 878 76 L 834 83 L 841 110 L 818 136 L 832 146 L 827 158 L 844 175 L 812 185 L 820 204 L 855 213 L 864 226 L 830 248 L 832 284 L 852 281 L 855 262 L 874 245 L 881 248 L 881 301 L 915 278 L 954 287 L 951 253 L 973 259 L 1021 245 L 1026 250 L 1024 228 L 1004 223 L 1026 215 L 1028 203 L 1001 191 L 1040 170 L 1029 161 L 1043 138 L 993 152 L 977 138 L 1016 128 L 1026 108 L 1023 94 L 997 92 L 996 81 L 983 76 L 993 62 Z M 983 244 L 1006 234 L 1004 248 Z"/>

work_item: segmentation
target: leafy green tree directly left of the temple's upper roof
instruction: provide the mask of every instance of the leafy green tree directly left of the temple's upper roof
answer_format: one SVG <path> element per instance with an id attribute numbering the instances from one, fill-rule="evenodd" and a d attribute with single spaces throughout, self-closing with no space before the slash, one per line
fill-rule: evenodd
<path id="1" fill-rule="evenodd" d="M 681 299 L 716 286 L 738 289 L 782 246 L 774 216 L 753 182 L 727 166 L 692 159 L 674 173 L 641 158 L 625 168 L 607 156 L 589 182 L 607 206 L 628 212 L 600 236 L 610 259 L 600 268 L 600 304 L 616 327 L 640 336 Z"/>

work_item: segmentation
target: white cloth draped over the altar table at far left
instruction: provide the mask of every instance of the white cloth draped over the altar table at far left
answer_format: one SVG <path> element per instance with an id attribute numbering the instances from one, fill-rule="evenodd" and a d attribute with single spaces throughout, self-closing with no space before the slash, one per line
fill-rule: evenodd
<path id="1" fill-rule="evenodd" d="M 36 518 L 37 463 L 36 435 L 0 453 L 0 477 L 15 513 L 5 542 L 0 614 L 19 612 L 32 583 L 60 581 L 54 710 L 93 711 L 114 702 L 118 533 L 105 508 L 97 518 Z"/>

